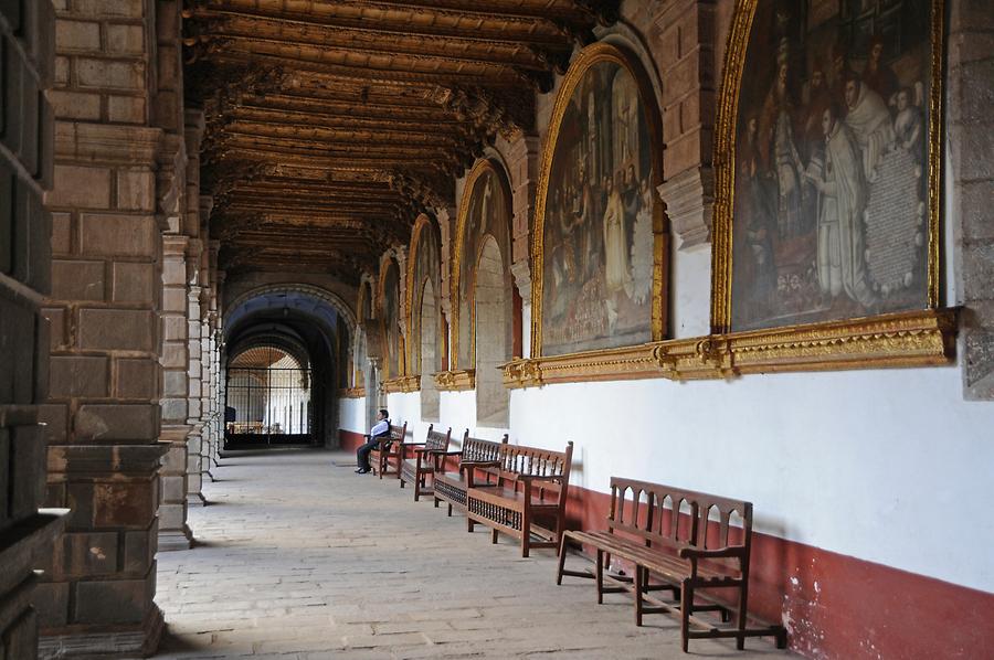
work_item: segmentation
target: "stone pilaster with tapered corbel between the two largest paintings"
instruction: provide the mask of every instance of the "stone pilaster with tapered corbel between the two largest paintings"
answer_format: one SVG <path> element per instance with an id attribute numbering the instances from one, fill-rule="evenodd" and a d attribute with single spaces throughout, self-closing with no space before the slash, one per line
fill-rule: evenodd
<path id="1" fill-rule="evenodd" d="M 656 4 L 651 42 L 663 86 L 665 181 L 659 195 L 680 248 L 711 239 L 715 177 L 715 0 Z"/>

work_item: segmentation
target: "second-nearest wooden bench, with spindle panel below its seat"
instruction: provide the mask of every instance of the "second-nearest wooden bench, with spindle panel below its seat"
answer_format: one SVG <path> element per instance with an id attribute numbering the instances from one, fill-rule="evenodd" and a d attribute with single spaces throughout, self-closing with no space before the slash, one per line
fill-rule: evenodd
<path id="1" fill-rule="evenodd" d="M 468 530 L 475 523 L 521 541 L 521 556 L 532 547 L 559 547 L 565 519 L 573 443 L 565 451 L 506 445 L 494 467 L 496 479 L 466 477 Z M 537 537 L 538 540 L 535 540 Z"/>

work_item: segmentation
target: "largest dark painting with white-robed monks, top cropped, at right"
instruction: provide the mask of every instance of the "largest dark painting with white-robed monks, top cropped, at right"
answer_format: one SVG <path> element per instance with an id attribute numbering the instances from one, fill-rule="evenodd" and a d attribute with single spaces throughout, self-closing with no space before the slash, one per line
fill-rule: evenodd
<path id="1" fill-rule="evenodd" d="M 939 10 L 740 3 L 753 13 L 734 119 L 728 329 L 934 306 Z"/>

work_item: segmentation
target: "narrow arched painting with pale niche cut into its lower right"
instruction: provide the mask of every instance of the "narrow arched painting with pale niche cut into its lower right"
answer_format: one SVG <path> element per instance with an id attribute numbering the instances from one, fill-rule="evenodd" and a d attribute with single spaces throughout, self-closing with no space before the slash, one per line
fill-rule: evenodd
<path id="1" fill-rule="evenodd" d="M 453 353 L 456 369 L 474 369 L 476 362 L 473 328 L 473 310 L 476 288 L 476 268 L 480 249 L 487 236 L 493 236 L 501 252 L 501 266 L 510 258 L 510 187 L 504 169 L 490 160 L 479 161 L 466 178 L 466 187 L 459 205 L 458 242 L 453 263 L 454 290 L 458 300 L 453 301 L 455 330 Z M 506 269 L 506 268 L 505 268 Z M 505 273 L 508 279 L 509 273 Z M 510 296 L 510 291 L 507 291 Z"/>

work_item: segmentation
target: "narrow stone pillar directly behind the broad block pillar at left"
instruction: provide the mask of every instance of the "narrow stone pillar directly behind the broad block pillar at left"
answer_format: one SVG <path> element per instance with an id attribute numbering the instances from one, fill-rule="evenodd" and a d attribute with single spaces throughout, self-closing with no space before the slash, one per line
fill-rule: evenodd
<path id="1" fill-rule="evenodd" d="M 182 235 L 162 235 L 162 432 L 168 444 L 159 501 L 159 550 L 187 550 L 187 245 Z"/>

